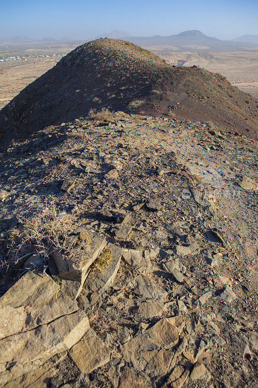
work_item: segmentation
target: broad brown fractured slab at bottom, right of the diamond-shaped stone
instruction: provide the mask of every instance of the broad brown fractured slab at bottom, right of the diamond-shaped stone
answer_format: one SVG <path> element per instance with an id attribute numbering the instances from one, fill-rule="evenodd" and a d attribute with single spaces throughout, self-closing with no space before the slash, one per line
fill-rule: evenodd
<path id="1" fill-rule="evenodd" d="M 138 371 L 153 372 L 155 368 L 160 368 L 161 373 L 166 374 L 172 352 L 170 351 L 168 356 L 164 351 L 177 344 L 178 339 L 178 328 L 167 319 L 161 319 L 124 345 L 124 359 L 131 362 Z M 160 351 L 163 354 L 159 354 Z M 160 364 L 162 359 L 166 365 Z"/>

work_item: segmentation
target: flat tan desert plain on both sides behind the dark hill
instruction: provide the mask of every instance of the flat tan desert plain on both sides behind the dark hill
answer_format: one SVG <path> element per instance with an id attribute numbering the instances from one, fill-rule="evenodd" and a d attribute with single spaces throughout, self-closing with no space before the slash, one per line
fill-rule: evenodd
<path id="1" fill-rule="evenodd" d="M 0 44 L 0 109 L 80 44 L 82 42 Z M 258 99 L 258 50 L 207 52 L 171 50 L 161 46 L 144 48 L 171 65 L 198 65 L 220 73 L 234 86 Z"/>

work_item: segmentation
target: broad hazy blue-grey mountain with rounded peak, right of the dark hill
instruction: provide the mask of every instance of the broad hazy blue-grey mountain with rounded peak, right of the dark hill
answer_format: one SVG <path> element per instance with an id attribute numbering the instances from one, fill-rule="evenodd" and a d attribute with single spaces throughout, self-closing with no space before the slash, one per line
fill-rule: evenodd
<path id="1" fill-rule="evenodd" d="M 240 42 L 220 40 L 205 35 L 198 30 L 183 31 L 177 35 L 170 36 L 142 36 L 128 37 L 129 42 L 143 47 L 150 46 L 173 46 L 178 49 L 237 49 L 242 47 Z M 252 43 L 246 44 L 252 47 Z"/>

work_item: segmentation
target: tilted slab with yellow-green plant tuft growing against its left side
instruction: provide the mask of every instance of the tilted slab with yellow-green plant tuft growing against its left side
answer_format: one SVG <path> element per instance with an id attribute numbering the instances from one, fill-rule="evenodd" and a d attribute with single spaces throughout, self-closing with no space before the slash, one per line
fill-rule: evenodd
<path id="1" fill-rule="evenodd" d="M 89 276 L 87 277 L 84 288 L 88 292 L 98 292 L 102 294 L 114 282 L 118 272 L 122 250 L 114 244 L 107 244 L 102 255 L 96 260 Z"/>

